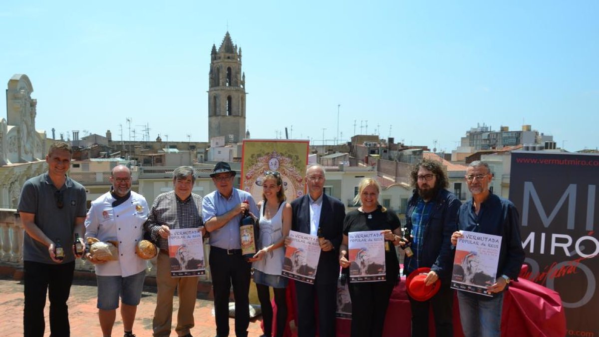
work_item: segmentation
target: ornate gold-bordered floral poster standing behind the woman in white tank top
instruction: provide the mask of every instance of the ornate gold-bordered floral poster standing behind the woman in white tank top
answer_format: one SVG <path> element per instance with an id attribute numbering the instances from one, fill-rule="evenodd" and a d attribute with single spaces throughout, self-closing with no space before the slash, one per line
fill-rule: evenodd
<path id="1" fill-rule="evenodd" d="M 254 200 L 262 200 L 264 173 L 277 171 L 288 202 L 304 195 L 308 143 L 307 140 L 244 140 L 241 189 L 252 194 Z"/>

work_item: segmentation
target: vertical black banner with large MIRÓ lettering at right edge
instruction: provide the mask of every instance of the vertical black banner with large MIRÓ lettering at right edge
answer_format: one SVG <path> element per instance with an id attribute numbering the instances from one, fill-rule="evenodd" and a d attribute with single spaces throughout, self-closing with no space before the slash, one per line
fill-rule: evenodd
<path id="1" fill-rule="evenodd" d="M 567 336 L 599 336 L 599 155 L 512 152 L 525 278 L 558 291 Z M 597 212 L 595 212 L 597 210 Z"/>

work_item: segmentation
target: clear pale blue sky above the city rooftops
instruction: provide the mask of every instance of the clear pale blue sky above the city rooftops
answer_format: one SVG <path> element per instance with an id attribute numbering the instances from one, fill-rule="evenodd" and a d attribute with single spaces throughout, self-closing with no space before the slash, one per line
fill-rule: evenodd
<path id="1" fill-rule="evenodd" d="M 530 124 L 577 151 L 599 146 L 598 14 L 597 1 L 12 1 L 0 80 L 29 76 L 49 137 L 120 139 L 121 124 L 128 140 L 129 117 L 138 140 L 149 125 L 150 139 L 207 142 L 210 50 L 228 30 L 254 139 L 292 127 L 320 145 L 325 128 L 331 143 L 338 122 L 341 140 L 357 124 L 449 152 L 477 124 Z"/>

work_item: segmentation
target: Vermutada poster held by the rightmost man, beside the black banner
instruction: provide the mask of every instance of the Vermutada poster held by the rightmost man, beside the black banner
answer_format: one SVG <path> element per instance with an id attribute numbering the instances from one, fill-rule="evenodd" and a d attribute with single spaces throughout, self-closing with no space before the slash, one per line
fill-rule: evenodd
<path id="1" fill-rule="evenodd" d="M 492 296 L 486 289 L 495 283 L 501 236 L 462 230 L 453 259 L 451 287 Z"/>

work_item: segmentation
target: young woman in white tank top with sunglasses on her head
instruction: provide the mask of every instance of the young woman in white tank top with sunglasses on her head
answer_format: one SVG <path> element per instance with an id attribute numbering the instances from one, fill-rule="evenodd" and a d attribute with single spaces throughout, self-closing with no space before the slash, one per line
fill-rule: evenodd
<path id="1" fill-rule="evenodd" d="M 285 258 L 285 237 L 291 229 L 291 205 L 285 201 L 283 180 L 277 171 L 266 171 L 262 182 L 262 198 L 258 203 L 260 209 L 260 243 L 261 248 L 252 258 L 254 282 L 258 290 L 258 299 L 262 308 L 264 335 L 271 337 L 273 331 L 273 307 L 270 303 L 268 287 L 273 287 L 274 302 L 277 305 L 276 336 L 282 337 L 287 319 L 287 303 L 285 288 L 288 279 L 281 275 Z"/>

